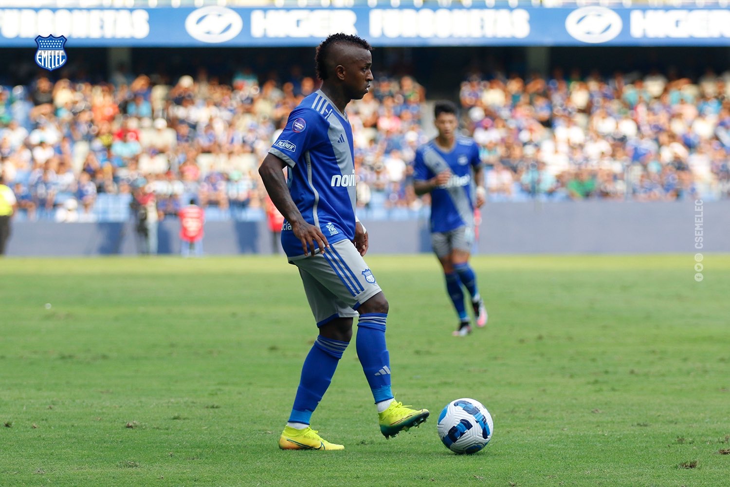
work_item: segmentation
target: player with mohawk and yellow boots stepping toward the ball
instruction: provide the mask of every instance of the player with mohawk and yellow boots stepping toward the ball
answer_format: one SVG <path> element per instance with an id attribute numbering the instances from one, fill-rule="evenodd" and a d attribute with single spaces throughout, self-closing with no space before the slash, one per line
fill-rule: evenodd
<path id="1" fill-rule="evenodd" d="M 304 359 L 299 388 L 281 437 L 284 450 L 343 450 L 323 440 L 310 418 L 353 336 L 386 438 L 418 426 L 429 411 L 393 400 L 385 346 L 388 301 L 363 256 L 368 234 L 355 216 L 353 132 L 345 114 L 373 80 L 372 48 L 359 37 L 333 34 L 317 48 L 322 88 L 296 107 L 258 170 L 272 202 L 284 215 L 281 242 L 299 268 L 319 329 Z M 284 176 L 283 169 L 287 169 Z"/>

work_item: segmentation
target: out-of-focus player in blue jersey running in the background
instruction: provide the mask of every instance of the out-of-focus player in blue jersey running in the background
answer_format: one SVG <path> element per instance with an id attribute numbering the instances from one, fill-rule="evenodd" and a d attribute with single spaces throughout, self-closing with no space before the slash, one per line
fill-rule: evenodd
<path id="1" fill-rule="evenodd" d="M 418 147 L 413 166 L 415 193 L 431 193 L 431 245 L 444 270 L 446 290 L 458 315 L 455 336 L 471 333 L 464 306 L 469 292 L 477 326 L 487 324 L 487 310 L 469 265 L 475 238 L 475 204 L 485 202 L 484 175 L 477 143 L 456 133 L 456 106 L 439 101 L 434 107 L 435 139 Z"/>

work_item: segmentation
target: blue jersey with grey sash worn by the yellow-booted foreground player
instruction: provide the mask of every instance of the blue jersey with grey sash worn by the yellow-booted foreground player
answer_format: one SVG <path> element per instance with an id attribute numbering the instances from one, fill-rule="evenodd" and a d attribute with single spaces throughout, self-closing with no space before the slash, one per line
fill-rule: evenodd
<path id="1" fill-rule="evenodd" d="M 288 164 L 289 192 L 307 223 L 331 244 L 355 238 L 353 130 L 322 91 L 301 101 L 269 153 Z M 302 256 L 301 241 L 284 222 L 281 243 L 289 258 Z"/>

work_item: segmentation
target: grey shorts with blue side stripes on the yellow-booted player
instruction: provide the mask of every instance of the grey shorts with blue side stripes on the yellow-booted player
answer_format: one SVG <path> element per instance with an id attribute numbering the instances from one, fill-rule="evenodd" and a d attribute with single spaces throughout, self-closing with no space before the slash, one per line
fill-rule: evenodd
<path id="1" fill-rule="evenodd" d="M 330 245 L 326 253 L 315 253 L 291 263 L 299 267 L 317 326 L 334 318 L 358 316 L 358 307 L 381 291 L 350 240 Z"/>

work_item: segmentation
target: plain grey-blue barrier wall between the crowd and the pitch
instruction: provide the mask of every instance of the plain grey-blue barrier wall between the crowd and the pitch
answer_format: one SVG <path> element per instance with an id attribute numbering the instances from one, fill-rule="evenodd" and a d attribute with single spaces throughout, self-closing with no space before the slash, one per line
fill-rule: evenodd
<path id="1" fill-rule="evenodd" d="M 431 251 L 426 220 L 366 221 L 370 253 Z M 159 253 L 180 252 L 180 223 L 159 226 Z M 137 253 L 134 223 L 14 222 L 9 256 Z M 702 237 L 701 242 L 696 242 Z M 696 245 L 702 244 L 702 247 Z M 205 225 L 204 253 L 272 253 L 265 221 Z M 730 201 L 488 203 L 476 253 L 730 252 Z"/>

